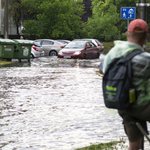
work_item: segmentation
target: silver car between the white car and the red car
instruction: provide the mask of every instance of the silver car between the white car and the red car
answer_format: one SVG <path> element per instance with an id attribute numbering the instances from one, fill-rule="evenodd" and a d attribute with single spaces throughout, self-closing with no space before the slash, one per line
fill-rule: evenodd
<path id="1" fill-rule="evenodd" d="M 59 51 L 66 46 L 66 44 L 51 39 L 37 39 L 35 42 L 39 42 L 43 47 L 44 56 L 58 56 Z"/>

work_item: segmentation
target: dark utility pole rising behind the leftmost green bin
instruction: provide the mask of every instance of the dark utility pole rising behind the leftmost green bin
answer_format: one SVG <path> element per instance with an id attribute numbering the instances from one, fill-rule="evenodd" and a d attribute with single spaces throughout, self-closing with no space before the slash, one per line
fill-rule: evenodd
<path id="1" fill-rule="evenodd" d="M 4 39 L 8 39 L 8 0 L 4 3 Z"/>

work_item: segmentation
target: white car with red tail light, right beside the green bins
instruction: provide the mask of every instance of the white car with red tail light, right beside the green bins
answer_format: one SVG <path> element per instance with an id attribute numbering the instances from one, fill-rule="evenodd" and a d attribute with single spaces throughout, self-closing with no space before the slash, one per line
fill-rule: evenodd
<path id="1" fill-rule="evenodd" d="M 44 56 L 43 47 L 38 42 L 33 42 L 33 46 L 31 48 L 31 58 L 37 58 Z"/>

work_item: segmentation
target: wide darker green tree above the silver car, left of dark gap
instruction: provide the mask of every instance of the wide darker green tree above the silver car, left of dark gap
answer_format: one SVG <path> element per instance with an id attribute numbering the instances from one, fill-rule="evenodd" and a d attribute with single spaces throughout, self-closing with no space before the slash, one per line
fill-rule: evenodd
<path id="1" fill-rule="evenodd" d="M 36 19 L 26 20 L 22 33 L 32 39 L 81 37 L 85 34 L 81 3 L 82 0 L 24 0 L 24 6 L 32 6 L 29 7 L 30 13 L 36 8 Z"/>

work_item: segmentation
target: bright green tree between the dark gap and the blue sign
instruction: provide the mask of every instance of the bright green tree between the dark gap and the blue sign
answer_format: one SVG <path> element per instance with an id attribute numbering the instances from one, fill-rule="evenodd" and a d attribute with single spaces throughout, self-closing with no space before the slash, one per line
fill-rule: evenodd
<path id="1" fill-rule="evenodd" d="M 116 24 L 119 22 L 117 8 L 111 0 L 93 0 L 93 17 L 89 18 L 84 30 L 88 30 L 91 38 L 105 38 L 114 40 L 118 38 L 119 32 Z"/>

